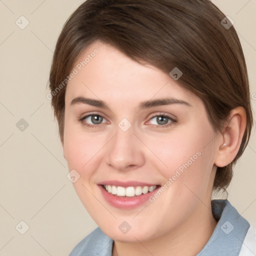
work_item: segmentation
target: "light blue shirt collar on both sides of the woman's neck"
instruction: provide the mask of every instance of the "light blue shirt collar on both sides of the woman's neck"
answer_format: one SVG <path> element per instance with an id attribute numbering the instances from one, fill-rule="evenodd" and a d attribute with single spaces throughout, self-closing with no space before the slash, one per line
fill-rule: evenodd
<path id="1" fill-rule="evenodd" d="M 249 223 L 228 200 L 212 200 L 212 214 L 218 221 L 208 242 L 196 256 L 238 256 Z M 99 227 L 83 238 L 69 256 L 112 256 L 113 240 Z"/>

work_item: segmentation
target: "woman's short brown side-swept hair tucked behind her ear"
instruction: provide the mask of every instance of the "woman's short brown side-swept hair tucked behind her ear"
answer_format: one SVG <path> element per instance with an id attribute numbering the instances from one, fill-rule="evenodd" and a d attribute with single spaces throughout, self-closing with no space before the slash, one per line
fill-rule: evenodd
<path id="1" fill-rule="evenodd" d="M 63 85 L 79 54 L 95 40 L 166 73 L 178 67 L 183 73 L 178 83 L 201 98 L 215 133 L 222 131 L 231 109 L 245 108 L 239 151 L 231 163 L 217 167 L 214 179 L 213 188 L 225 190 L 248 143 L 253 117 L 240 41 L 233 26 L 221 24 L 224 18 L 209 0 L 86 0 L 58 37 L 49 76 L 51 93 Z M 62 143 L 65 87 L 51 99 Z"/>

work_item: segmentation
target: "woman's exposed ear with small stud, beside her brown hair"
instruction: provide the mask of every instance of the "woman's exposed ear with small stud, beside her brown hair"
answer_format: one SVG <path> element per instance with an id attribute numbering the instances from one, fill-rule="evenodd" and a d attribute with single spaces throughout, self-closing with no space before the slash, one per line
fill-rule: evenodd
<path id="1" fill-rule="evenodd" d="M 215 165 L 223 167 L 229 164 L 236 156 L 242 136 L 246 128 L 246 111 L 238 106 L 231 110 L 228 122 L 220 135 L 215 155 Z"/>

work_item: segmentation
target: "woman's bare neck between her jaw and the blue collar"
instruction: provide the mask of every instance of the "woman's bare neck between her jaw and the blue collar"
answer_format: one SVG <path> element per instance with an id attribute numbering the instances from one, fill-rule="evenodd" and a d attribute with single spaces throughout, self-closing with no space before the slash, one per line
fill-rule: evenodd
<path id="1" fill-rule="evenodd" d="M 175 230 L 147 241 L 114 241 L 113 256 L 192 256 L 196 255 L 212 235 L 217 221 L 211 212 L 211 204 L 199 203 L 199 207 Z"/>

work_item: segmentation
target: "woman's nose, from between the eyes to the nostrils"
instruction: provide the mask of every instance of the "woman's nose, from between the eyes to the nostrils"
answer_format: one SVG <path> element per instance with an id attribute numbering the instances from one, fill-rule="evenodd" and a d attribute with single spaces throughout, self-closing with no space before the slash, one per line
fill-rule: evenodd
<path id="1" fill-rule="evenodd" d="M 123 131 L 118 126 L 106 148 L 106 163 L 114 169 L 125 171 L 144 164 L 143 144 L 133 133 L 133 127 Z"/>

